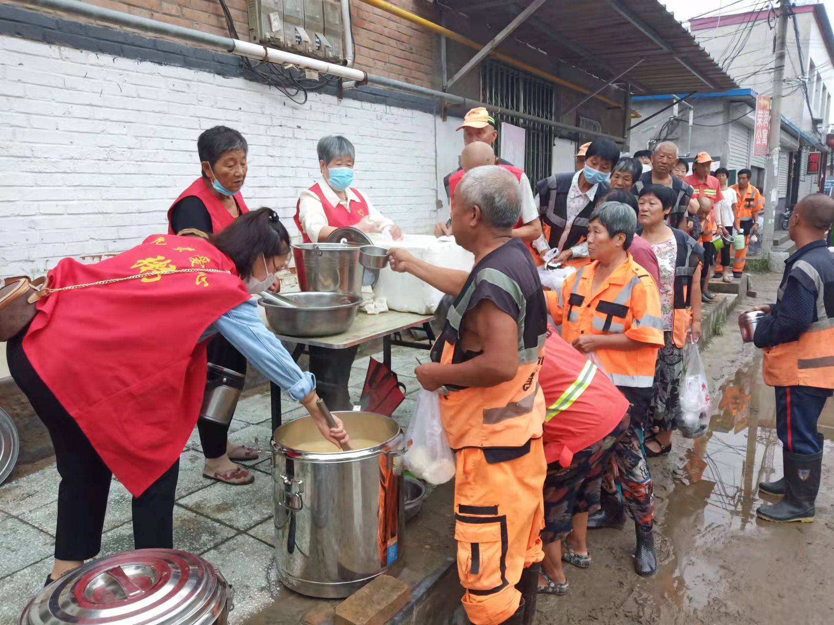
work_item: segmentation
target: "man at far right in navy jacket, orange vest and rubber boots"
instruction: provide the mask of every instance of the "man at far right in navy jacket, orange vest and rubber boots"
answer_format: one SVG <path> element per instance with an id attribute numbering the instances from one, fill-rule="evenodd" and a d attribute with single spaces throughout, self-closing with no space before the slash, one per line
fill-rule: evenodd
<path id="1" fill-rule="evenodd" d="M 814 520 L 822 472 L 816 421 L 834 390 L 834 257 L 825 241 L 832 223 L 834 199 L 815 193 L 796 204 L 789 233 L 798 249 L 785 261 L 776 303 L 753 309 L 767 313 L 753 340 L 764 349 L 765 383 L 776 391 L 785 468 L 784 478 L 759 484 L 764 493 L 784 495 L 756 511 L 766 521 Z"/>

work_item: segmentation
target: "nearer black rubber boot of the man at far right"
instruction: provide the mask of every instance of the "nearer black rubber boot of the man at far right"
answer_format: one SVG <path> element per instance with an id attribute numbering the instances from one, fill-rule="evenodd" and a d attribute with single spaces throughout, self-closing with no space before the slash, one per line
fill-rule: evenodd
<path id="1" fill-rule="evenodd" d="M 756 510 L 765 521 L 787 523 L 814 520 L 814 502 L 820 490 L 822 452 L 803 455 L 782 450 L 785 464 L 785 497 L 771 506 Z"/>

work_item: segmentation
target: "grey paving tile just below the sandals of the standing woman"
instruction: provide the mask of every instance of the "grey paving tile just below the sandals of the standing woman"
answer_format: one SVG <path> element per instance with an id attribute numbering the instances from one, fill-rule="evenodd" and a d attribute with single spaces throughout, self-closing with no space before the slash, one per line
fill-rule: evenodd
<path id="1" fill-rule="evenodd" d="M 255 481 L 246 486 L 214 483 L 178 503 L 207 517 L 245 529 L 264 521 L 273 513 L 272 479 L 257 472 Z"/>

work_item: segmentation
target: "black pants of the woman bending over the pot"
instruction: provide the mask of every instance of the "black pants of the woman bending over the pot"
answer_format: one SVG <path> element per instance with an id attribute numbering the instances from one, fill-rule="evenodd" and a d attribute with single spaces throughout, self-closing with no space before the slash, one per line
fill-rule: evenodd
<path id="1" fill-rule="evenodd" d="M 101 551 L 104 512 L 113 474 L 89 439 L 32 368 L 19 333 L 7 344 L 8 368 L 49 431 L 61 483 L 55 557 L 87 560 Z M 137 549 L 173 548 L 173 498 L 179 460 L 133 498 L 133 546 Z"/>

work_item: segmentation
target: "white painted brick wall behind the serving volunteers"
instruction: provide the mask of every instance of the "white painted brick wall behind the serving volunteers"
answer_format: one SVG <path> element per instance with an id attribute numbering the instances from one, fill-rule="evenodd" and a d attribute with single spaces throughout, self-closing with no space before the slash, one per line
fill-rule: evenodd
<path id="1" fill-rule="evenodd" d="M 0 278 L 164 232 L 199 174 L 198 135 L 217 124 L 249 142 L 246 203 L 291 233 L 329 133 L 356 145 L 357 186 L 377 208 L 409 232 L 435 223 L 431 114 L 316 93 L 298 106 L 239 78 L 0 37 Z"/>

